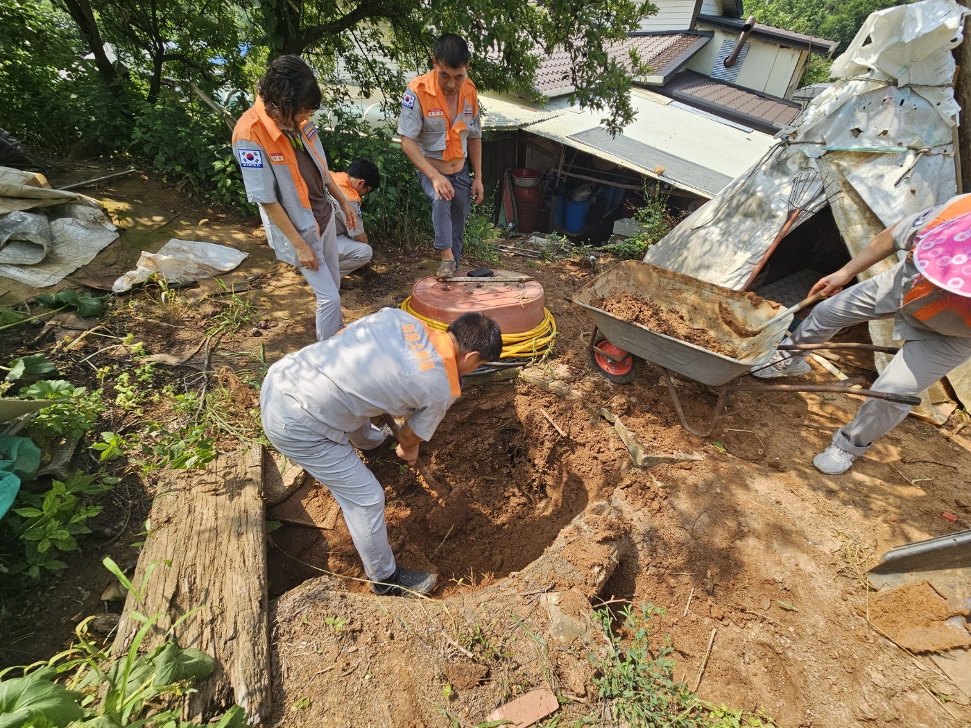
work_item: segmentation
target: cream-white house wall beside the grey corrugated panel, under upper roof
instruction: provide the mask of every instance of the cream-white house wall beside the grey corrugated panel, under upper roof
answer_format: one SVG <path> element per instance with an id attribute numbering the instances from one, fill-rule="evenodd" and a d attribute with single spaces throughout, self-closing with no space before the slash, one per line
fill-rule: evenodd
<path id="1" fill-rule="evenodd" d="M 702 23 L 698 23 L 697 27 L 709 29 Z M 711 30 L 715 31 L 715 37 L 687 64 L 687 68 L 705 76 L 711 76 L 722 44 L 728 42 L 733 46 L 738 40 L 737 34 L 728 33 L 720 28 L 711 28 Z M 773 96 L 789 98 L 797 87 L 809 53 L 805 50 L 767 43 L 757 38 L 750 38 L 748 46 L 734 83 Z"/>

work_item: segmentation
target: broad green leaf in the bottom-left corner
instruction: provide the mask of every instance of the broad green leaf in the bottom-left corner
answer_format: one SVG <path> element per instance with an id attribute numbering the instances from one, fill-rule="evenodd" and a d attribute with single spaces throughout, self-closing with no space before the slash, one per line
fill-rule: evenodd
<path id="1" fill-rule="evenodd" d="M 45 672 L 0 682 L 0 728 L 30 725 L 66 726 L 84 717 L 81 693 L 51 682 Z"/>

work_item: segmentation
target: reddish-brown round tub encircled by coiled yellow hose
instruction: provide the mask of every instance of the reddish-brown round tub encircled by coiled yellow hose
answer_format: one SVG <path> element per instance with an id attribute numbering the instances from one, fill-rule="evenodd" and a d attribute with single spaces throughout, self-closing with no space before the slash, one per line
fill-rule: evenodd
<path id="1" fill-rule="evenodd" d="M 522 276 L 515 271 L 494 270 L 494 278 Z M 468 276 L 468 269 L 455 278 Z M 412 309 L 436 321 L 452 323 L 461 314 L 478 311 L 494 319 L 503 334 L 521 334 L 543 323 L 545 299 L 539 281 L 515 283 L 450 282 L 428 276 L 412 288 Z"/>

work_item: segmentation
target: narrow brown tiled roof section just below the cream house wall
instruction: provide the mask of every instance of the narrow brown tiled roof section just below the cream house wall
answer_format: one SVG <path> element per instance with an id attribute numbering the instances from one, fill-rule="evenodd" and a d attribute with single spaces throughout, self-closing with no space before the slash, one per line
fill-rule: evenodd
<path id="1" fill-rule="evenodd" d="M 802 111 L 802 106 L 795 102 L 735 83 L 710 79 L 694 71 L 682 71 L 657 91 L 768 134 L 788 126 Z"/>

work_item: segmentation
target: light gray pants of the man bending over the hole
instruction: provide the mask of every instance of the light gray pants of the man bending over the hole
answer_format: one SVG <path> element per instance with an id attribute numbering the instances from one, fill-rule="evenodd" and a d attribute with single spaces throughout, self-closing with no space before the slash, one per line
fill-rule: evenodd
<path id="1" fill-rule="evenodd" d="M 335 443 L 287 414 L 280 406 L 286 399 L 261 397 L 266 437 L 273 447 L 314 476 L 334 496 L 368 579 L 388 579 L 396 567 L 387 543 L 385 490 L 354 451 L 354 447 L 380 446 L 385 440 L 384 433 L 367 422 L 351 433 L 350 443 Z"/>

